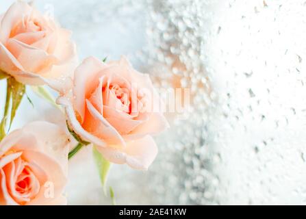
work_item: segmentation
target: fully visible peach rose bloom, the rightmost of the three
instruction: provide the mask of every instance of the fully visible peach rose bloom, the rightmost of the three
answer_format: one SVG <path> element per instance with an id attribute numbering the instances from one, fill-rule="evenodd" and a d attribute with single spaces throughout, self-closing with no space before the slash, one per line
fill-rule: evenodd
<path id="1" fill-rule="evenodd" d="M 149 75 L 125 59 L 105 64 L 88 57 L 75 70 L 73 95 L 58 99 L 77 135 L 105 159 L 146 169 L 157 155 L 150 134 L 168 127 Z"/>

